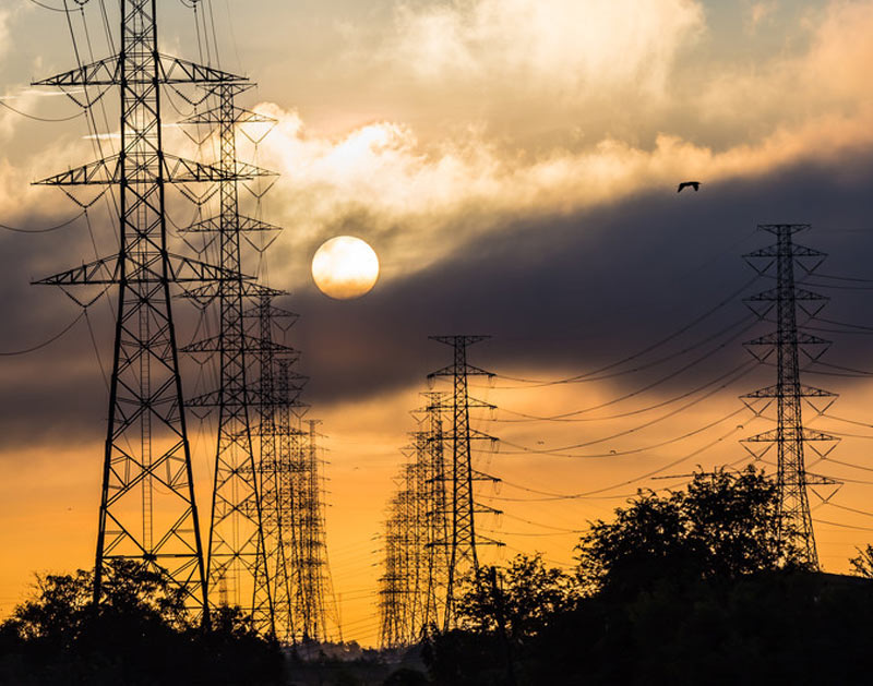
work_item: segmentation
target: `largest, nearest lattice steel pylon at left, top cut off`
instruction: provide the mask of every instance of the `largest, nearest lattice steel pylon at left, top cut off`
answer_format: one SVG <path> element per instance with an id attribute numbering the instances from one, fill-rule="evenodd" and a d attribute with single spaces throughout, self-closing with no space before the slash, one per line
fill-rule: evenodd
<path id="1" fill-rule="evenodd" d="M 119 186 L 119 252 L 37 281 L 117 286 L 118 310 L 100 494 L 94 599 L 104 565 L 132 559 L 166 575 L 193 613 L 207 613 L 206 577 L 170 284 L 238 280 L 238 274 L 172 255 L 165 186 L 220 182 L 218 168 L 168 155 L 163 146 L 166 84 L 239 84 L 244 79 L 158 52 L 155 0 L 120 0 L 120 52 L 34 85 L 117 86 L 120 153 L 38 183 Z M 236 165 L 235 178 L 256 170 Z"/>

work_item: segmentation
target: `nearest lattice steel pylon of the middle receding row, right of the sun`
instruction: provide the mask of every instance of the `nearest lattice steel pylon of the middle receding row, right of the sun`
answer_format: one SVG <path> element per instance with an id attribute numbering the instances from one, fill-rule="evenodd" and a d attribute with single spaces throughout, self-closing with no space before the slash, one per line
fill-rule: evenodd
<path id="1" fill-rule="evenodd" d="M 493 409 L 494 406 L 470 398 L 468 389 L 469 376 L 491 376 L 485 370 L 467 362 L 467 347 L 487 340 L 488 336 L 431 336 L 431 340 L 451 346 L 454 350 L 454 362 L 428 375 L 428 378 L 447 376 L 452 378 L 453 392 L 451 401 L 435 406 L 435 409 L 446 410 L 452 414 L 452 424 L 449 431 L 443 432 L 443 441 L 451 446 L 451 468 L 447 474 L 451 483 L 450 515 L 451 538 L 435 543 L 449 547 L 449 568 L 446 571 L 445 607 L 443 615 L 444 628 L 454 624 L 454 602 L 458 580 L 468 574 L 475 574 L 479 568 L 479 545 L 503 545 L 502 542 L 476 533 L 477 514 L 500 514 L 492 507 L 478 504 L 475 501 L 475 481 L 500 481 L 494 477 L 477 471 L 473 468 L 473 441 L 491 441 L 489 436 L 470 428 L 470 408 Z"/>

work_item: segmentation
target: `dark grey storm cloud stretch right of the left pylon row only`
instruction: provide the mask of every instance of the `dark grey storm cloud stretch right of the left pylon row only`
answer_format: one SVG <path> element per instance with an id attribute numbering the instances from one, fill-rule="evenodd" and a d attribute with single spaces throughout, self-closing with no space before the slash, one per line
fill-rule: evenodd
<path id="1" fill-rule="evenodd" d="M 757 224 L 811 224 L 797 240 L 830 254 L 823 273 L 873 278 L 872 183 L 870 152 L 838 166 L 804 163 L 721 184 L 704 179 L 696 194 L 671 188 L 574 216 L 518 218 L 423 272 L 385 275 L 358 301 L 307 291 L 294 308 L 302 314 L 297 334 L 310 396 L 327 401 L 423 384 L 451 360 L 427 340 L 436 334 L 492 335 L 470 356 L 494 372 L 560 376 L 608 364 L 741 290 L 755 275 L 741 255 L 773 238 L 756 232 Z M 871 231 L 856 231 L 864 228 Z M 760 279 L 745 294 L 772 285 Z M 833 298 L 828 317 L 873 324 L 870 291 L 821 290 Z M 738 294 L 683 340 L 704 339 L 746 313 Z M 719 363 L 745 359 L 741 342 L 751 337 L 726 348 Z M 830 359 L 863 364 L 871 352 L 864 336 L 836 338 Z M 706 375 L 711 365 L 701 364 L 675 383 Z"/>

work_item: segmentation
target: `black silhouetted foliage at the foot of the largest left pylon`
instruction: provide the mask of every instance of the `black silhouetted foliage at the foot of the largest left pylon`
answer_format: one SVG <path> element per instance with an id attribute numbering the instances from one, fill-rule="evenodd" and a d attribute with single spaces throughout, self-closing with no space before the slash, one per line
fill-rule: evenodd
<path id="1" fill-rule="evenodd" d="M 0 684 L 273 684 L 276 646 L 254 636 L 239 607 L 219 609 L 210 630 L 157 571 L 130 562 L 94 575 L 38 576 L 34 595 L 0 625 Z"/>

